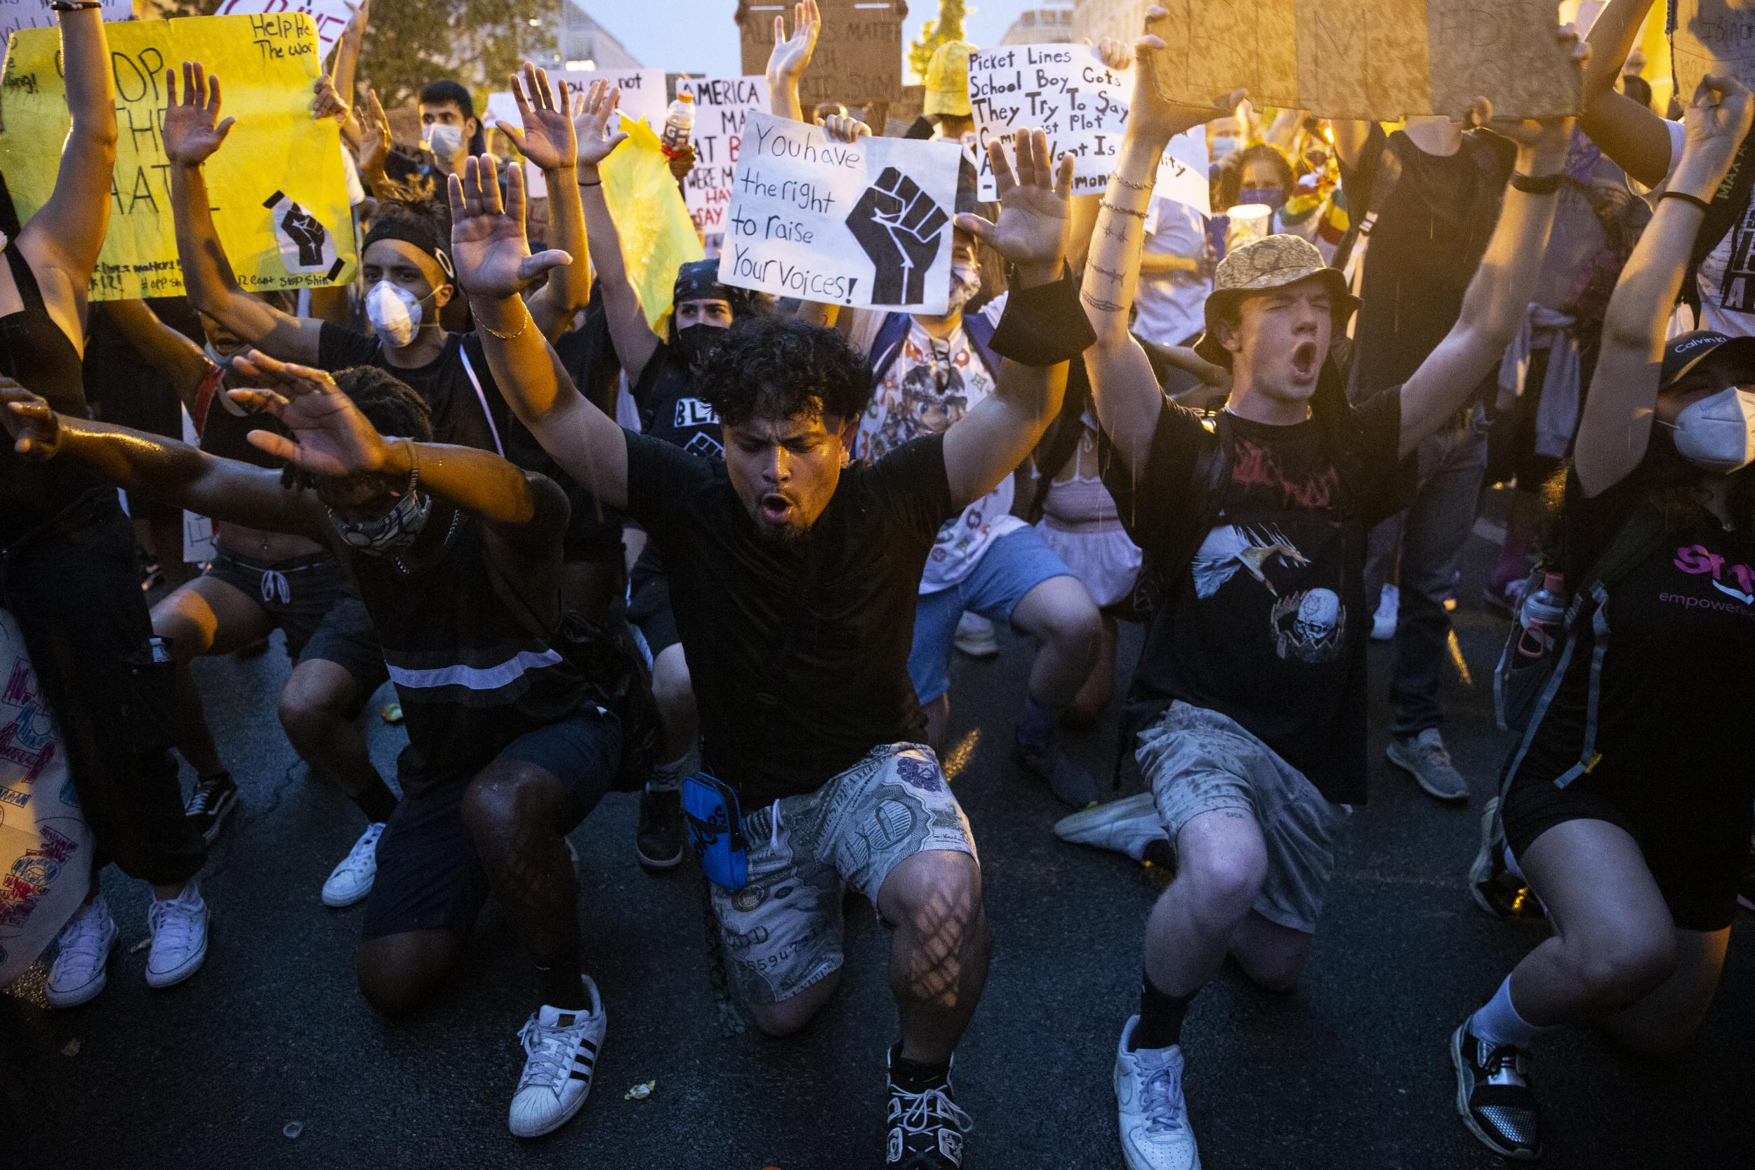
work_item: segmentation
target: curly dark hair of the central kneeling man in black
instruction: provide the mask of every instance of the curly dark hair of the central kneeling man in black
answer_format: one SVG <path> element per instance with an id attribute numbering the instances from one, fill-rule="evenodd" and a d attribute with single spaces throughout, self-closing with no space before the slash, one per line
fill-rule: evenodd
<path id="1" fill-rule="evenodd" d="M 835 330 L 797 317 L 744 317 L 700 370 L 700 396 L 728 426 L 753 417 L 848 419 L 872 395 L 872 374 Z"/>

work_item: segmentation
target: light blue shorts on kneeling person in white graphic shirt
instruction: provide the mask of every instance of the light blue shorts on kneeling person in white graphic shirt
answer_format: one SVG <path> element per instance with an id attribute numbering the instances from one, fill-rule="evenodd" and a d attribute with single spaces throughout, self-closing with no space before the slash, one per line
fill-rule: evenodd
<path id="1" fill-rule="evenodd" d="M 1011 623 L 1018 602 L 1049 577 L 1071 577 L 1034 528 L 1009 531 L 981 554 L 974 572 L 937 593 L 914 602 L 914 649 L 907 654 L 907 677 L 921 707 L 951 689 L 951 649 L 956 623 L 965 609 L 988 621 Z"/>

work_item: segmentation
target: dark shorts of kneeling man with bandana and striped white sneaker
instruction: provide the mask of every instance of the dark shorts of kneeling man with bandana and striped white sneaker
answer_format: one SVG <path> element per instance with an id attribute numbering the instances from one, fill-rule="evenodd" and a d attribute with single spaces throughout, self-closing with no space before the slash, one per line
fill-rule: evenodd
<path id="1" fill-rule="evenodd" d="M 579 821 L 584 821 L 616 779 L 621 724 L 598 707 L 583 707 L 518 737 L 500 760 L 532 763 L 558 779 L 577 800 Z M 365 938 L 411 930 L 448 930 L 463 937 L 474 928 L 488 900 L 488 874 L 463 824 L 463 793 L 472 779 L 458 775 L 416 795 L 404 793 L 377 838 L 377 879 L 365 900 Z"/>

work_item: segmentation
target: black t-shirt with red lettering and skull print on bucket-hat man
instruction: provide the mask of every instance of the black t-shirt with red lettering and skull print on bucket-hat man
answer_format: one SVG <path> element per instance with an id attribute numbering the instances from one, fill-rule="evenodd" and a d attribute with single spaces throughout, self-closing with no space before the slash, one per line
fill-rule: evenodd
<path id="1" fill-rule="evenodd" d="M 1399 388 L 1371 398 L 1350 412 L 1348 446 L 1390 454 L 1339 461 L 1314 419 L 1230 416 L 1230 477 L 1211 509 L 1197 468 L 1213 437 L 1165 402 L 1144 474 L 1106 468 L 1132 493 L 1128 535 L 1171 584 L 1128 693 L 1135 726 L 1179 698 L 1236 719 L 1329 800 L 1365 798 L 1365 531 L 1406 503 L 1400 424 Z M 1351 482 L 1341 467 L 1358 468 Z M 1209 516 L 1193 561 L 1172 563 Z"/>

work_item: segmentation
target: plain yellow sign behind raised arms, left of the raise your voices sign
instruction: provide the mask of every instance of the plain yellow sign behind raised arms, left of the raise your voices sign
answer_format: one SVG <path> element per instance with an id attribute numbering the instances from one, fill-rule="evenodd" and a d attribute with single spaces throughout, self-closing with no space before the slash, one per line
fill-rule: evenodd
<path id="1" fill-rule="evenodd" d="M 670 312 L 676 270 L 690 260 L 706 260 L 688 216 L 683 193 L 670 174 L 670 160 L 658 135 L 641 121 L 621 119 L 628 140 L 604 160 L 604 200 L 621 233 L 621 261 L 641 295 L 646 323 L 655 330 Z"/>

